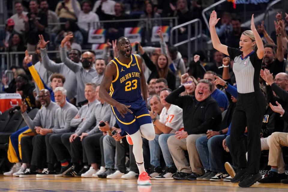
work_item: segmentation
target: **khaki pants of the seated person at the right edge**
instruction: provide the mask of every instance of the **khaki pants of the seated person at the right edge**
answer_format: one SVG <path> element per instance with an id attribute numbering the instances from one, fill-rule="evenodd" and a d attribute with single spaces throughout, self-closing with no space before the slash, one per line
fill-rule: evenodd
<path id="1" fill-rule="evenodd" d="M 272 133 L 269 143 L 270 150 L 268 165 L 278 166 L 279 168 L 281 168 L 282 172 L 282 167 L 284 165 L 282 147 L 288 146 L 288 133 Z M 285 170 L 283 171 L 283 173 L 284 172 Z"/>

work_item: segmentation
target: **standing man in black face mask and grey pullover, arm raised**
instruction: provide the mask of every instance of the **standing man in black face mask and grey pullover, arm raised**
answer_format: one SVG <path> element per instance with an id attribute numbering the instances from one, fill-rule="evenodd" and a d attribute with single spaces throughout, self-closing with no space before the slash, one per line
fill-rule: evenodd
<path id="1" fill-rule="evenodd" d="M 81 65 L 71 61 L 71 59 L 67 58 L 66 49 L 64 47 L 65 43 L 73 38 L 73 34 L 65 36 L 65 38 L 61 41 L 61 61 L 70 68 L 75 74 L 77 79 L 77 97 L 76 103 L 79 107 L 86 104 L 88 101 L 85 99 L 84 90 L 85 83 L 91 82 L 91 80 L 98 76 L 98 72 L 92 68 L 92 64 L 95 61 L 95 55 L 91 52 L 84 52 L 82 54 Z"/>

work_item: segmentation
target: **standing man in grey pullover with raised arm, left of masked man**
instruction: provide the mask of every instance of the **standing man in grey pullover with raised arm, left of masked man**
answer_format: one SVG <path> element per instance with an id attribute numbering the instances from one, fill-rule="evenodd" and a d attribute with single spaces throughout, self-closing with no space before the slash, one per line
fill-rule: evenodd
<path id="1" fill-rule="evenodd" d="M 66 83 L 63 85 L 63 87 L 67 90 L 67 98 L 69 99 L 70 103 L 76 103 L 76 101 L 73 102 L 77 94 L 76 74 L 72 70 L 70 70 L 69 67 L 67 67 L 64 63 L 55 63 L 54 61 L 50 60 L 46 49 L 46 45 L 49 43 L 49 41 L 45 41 L 43 35 L 39 35 L 39 39 L 43 66 L 46 68 L 46 70 L 52 73 L 60 73 L 65 77 Z M 79 50 L 71 49 L 68 54 L 68 58 L 81 66 L 81 63 L 79 63 L 81 58 L 81 52 Z"/>

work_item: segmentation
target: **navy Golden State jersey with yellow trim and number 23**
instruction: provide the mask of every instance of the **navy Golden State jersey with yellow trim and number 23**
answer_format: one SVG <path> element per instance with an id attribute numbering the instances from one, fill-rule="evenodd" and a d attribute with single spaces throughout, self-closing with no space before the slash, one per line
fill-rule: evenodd
<path id="1" fill-rule="evenodd" d="M 136 55 L 131 54 L 131 62 L 121 63 L 117 58 L 111 60 L 117 68 L 116 78 L 110 86 L 110 96 L 118 102 L 134 102 L 141 96 L 140 67 Z"/>

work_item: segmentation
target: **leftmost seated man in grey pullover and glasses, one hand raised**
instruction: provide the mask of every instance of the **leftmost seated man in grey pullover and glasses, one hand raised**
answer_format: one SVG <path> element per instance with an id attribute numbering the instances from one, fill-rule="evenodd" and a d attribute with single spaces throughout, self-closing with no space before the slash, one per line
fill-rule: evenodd
<path id="1" fill-rule="evenodd" d="M 42 108 L 33 120 L 26 112 L 27 105 L 25 102 L 19 104 L 24 121 L 32 132 L 37 133 L 36 136 L 26 136 L 21 139 L 22 163 L 24 164 L 22 167 L 26 169 L 19 177 L 36 177 L 37 168 L 42 165 L 43 157 L 47 155 L 47 159 L 53 159 L 53 149 L 49 144 L 51 134 L 49 133 L 52 133 L 52 128 L 54 128 L 58 105 L 51 101 L 50 92 L 47 89 L 39 91 L 38 98 Z"/>

